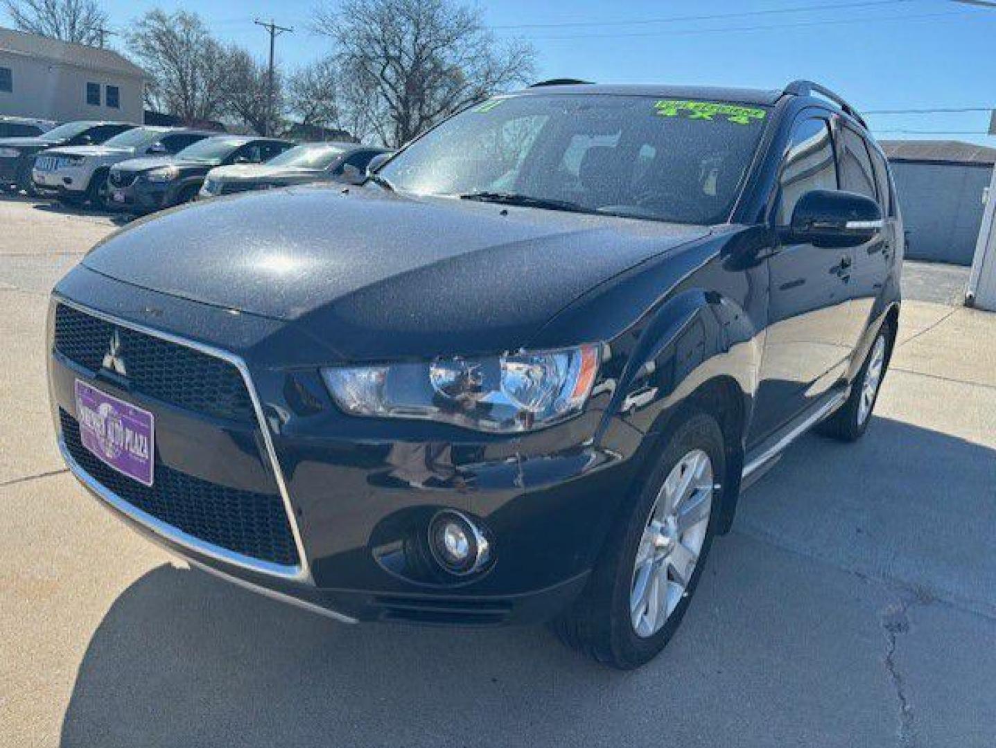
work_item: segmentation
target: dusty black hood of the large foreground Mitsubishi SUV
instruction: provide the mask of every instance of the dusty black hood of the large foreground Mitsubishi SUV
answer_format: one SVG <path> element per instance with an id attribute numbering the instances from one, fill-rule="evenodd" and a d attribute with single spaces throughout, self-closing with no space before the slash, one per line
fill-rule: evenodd
<path id="1" fill-rule="evenodd" d="M 302 187 L 137 222 L 84 265 L 162 293 L 294 320 L 354 359 L 470 354 L 528 343 L 587 290 L 708 234 L 375 187 Z"/>

